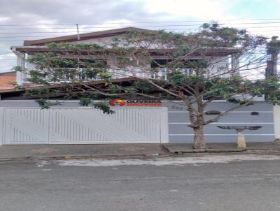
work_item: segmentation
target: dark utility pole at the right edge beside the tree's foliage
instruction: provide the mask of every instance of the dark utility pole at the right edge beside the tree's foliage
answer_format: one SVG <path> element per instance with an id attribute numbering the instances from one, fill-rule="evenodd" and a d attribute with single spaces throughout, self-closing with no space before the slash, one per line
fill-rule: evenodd
<path id="1" fill-rule="evenodd" d="M 267 60 L 267 68 L 265 68 L 265 78 L 272 78 L 278 74 L 277 61 L 278 53 L 280 51 L 277 43 L 278 36 L 272 36 L 272 41 L 267 45 L 267 53 L 270 54 L 270 59 Z"/>

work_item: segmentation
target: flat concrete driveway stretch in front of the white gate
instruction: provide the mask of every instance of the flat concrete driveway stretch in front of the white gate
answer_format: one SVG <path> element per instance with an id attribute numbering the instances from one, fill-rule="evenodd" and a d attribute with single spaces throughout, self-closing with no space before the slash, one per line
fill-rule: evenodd
<path id="1" fill-rule="evenodd" d="M 167 154 L 159 144 L 111 144 L 111 145 L 3 145 L 0 159 L 102 157 Z"/>

